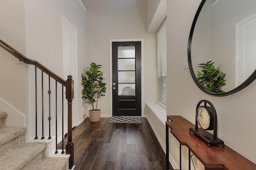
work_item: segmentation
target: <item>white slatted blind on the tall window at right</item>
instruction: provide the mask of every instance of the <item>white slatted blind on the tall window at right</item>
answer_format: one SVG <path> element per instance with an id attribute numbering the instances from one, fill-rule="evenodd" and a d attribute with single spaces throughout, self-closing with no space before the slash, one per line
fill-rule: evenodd
<path id="1" fill-rule="evenodd" d="M 156 34 L 157 37 L 157 100 L 166 105 L 166 75 L 167 75 L 167 31 L 166 22 Z"/>

